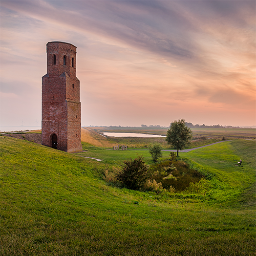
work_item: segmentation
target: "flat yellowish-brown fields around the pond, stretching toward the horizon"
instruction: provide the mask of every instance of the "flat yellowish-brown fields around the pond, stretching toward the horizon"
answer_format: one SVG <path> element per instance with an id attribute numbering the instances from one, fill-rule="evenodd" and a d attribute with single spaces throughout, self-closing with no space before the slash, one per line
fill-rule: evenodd
<path id="1" fill-rule="evenodd" d="M 160 143 L 164 149 L 173 149 L 168 145 L 165 138 L 136 138 L 136 137 L 103 137 L 100 134 L 104 132 L 127 132 L 127 133 L 144 133 L 166 135 L 166 128 L 155 127 L 84 127 L 82 128 L 82 142 L 86 142 L 95 146 L 113 147 L 113 145 L 127 145 L 129 148 L 147 148 L 150 143 Z M 256 129 L 209 129 L 209 128 L 193 128 L 193 140 L 186 148 L 193 148 L 202 145 L 211 144 L 232 139 L 254 139 Z M 83 136 L 86 134 L 86 136 Z M 86 149 L 86 147 L 84 147 Z"/>

